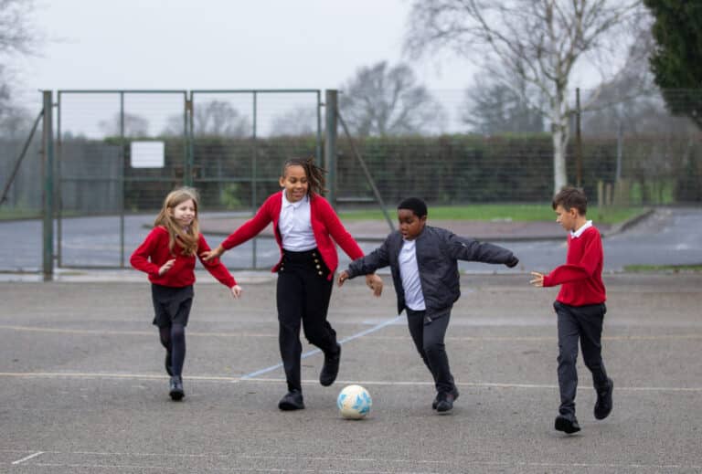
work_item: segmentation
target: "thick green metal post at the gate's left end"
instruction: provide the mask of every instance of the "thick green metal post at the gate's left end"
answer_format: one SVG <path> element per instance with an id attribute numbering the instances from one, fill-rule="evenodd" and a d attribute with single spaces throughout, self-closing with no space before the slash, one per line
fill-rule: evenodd
<path id="1" fill-rule="evenodd" d="M 54 127 L 53 92 L 42 91 L 44 99 L 44 127 L 42 132 L 42 172 L 44 183 L 44 221 L 42 225 L 44 251 L 42 263 L 44 279 L 54 275 Z"/>

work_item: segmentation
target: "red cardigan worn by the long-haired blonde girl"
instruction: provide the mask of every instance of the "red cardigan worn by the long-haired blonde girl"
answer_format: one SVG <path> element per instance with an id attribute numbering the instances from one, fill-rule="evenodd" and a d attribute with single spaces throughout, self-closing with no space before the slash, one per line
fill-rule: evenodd
<path id="1" fill-rule="evenodd" d="M 200 234 L 197 242 L 197 258 L 200 258 L 200 253 L 208 250 L 209 246 L 205 241 L 205 237 L 202 237 L 202 234 Z M 171 269 L 159 276 L 158 269 L 171 258 L 176 258 L 175 264 Z M 149 235 L 146 236 L 142 245 L 134 250 L 129 261 L 134 269 L 148 273 L 149 281 L 157 285 L 182 288 L 195 282 L 195 256 L 186 257 L 183 255 L 183 248 L 178 245 L 177 240 L 173 246 L 173 253 L 171 253 L 168 248 L 168 230 L 164 226 L 154 227 L 149 232 Z M 200 261 L 207 271 L 223 285 L 231 288 L 237 284 L 229 270 L 219 261 L 219 258 L 214 258 L 208 262 L 200 258 Z"/>

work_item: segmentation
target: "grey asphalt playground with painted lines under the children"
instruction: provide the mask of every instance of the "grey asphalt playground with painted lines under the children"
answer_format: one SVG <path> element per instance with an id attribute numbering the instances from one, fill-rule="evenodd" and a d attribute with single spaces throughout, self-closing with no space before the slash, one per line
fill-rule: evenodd
<path id="1" fill-rule="evenodd" d="M 431 409 L 387 276 L 379 299 L 362 279 L 335 288 L 339 378 L 318 384 L 323 356 L 305 345 L 307 407 L 279 411 L 275 280 L 237 277 L 232 300 L 198 273 L 179 403 L 145 278 L 0 282 L 0 472 L 702 472 L 698 273 L 605 275 L 614 409 L 594 419 L 579 361 L 573 436 L 553 429 L 557 289 L 531 288 L 526 272 L 462 277 L 447 338 L 461 396 L 447 416 Z M 366 419 L 339 416 L 346 384 L 372 395 Z"/>

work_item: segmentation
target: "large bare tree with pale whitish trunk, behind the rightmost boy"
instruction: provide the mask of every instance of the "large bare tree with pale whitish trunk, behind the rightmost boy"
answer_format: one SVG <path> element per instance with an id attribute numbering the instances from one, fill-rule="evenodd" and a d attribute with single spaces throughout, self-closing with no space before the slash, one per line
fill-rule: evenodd
<path id="1" fill-rule="evenodd" d="M 414 0 L 406 48 L 415 57 L 441 47 L 487 53 L 495 77 L 537 87 L 548 100 L 556 193 L 567 184 L 574 69 L 621 44 L 625 20 L 639 8 L 640 0 Z"/>

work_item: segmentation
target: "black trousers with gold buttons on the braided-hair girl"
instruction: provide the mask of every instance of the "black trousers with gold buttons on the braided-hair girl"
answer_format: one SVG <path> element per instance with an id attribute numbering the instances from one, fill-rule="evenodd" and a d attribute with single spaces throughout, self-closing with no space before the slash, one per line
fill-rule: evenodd
<path id="1" fill-rule="evenodd" d="M 302 391 L 300 327 L 304 337 L 324 354 L 335 354 L 336 332 L 326 312 L 332 296 L 333 279 L 315 248 L 305 252 L 283 250 L 276 300 L 278 305 L 278 342 L 288 390 Z"/>

